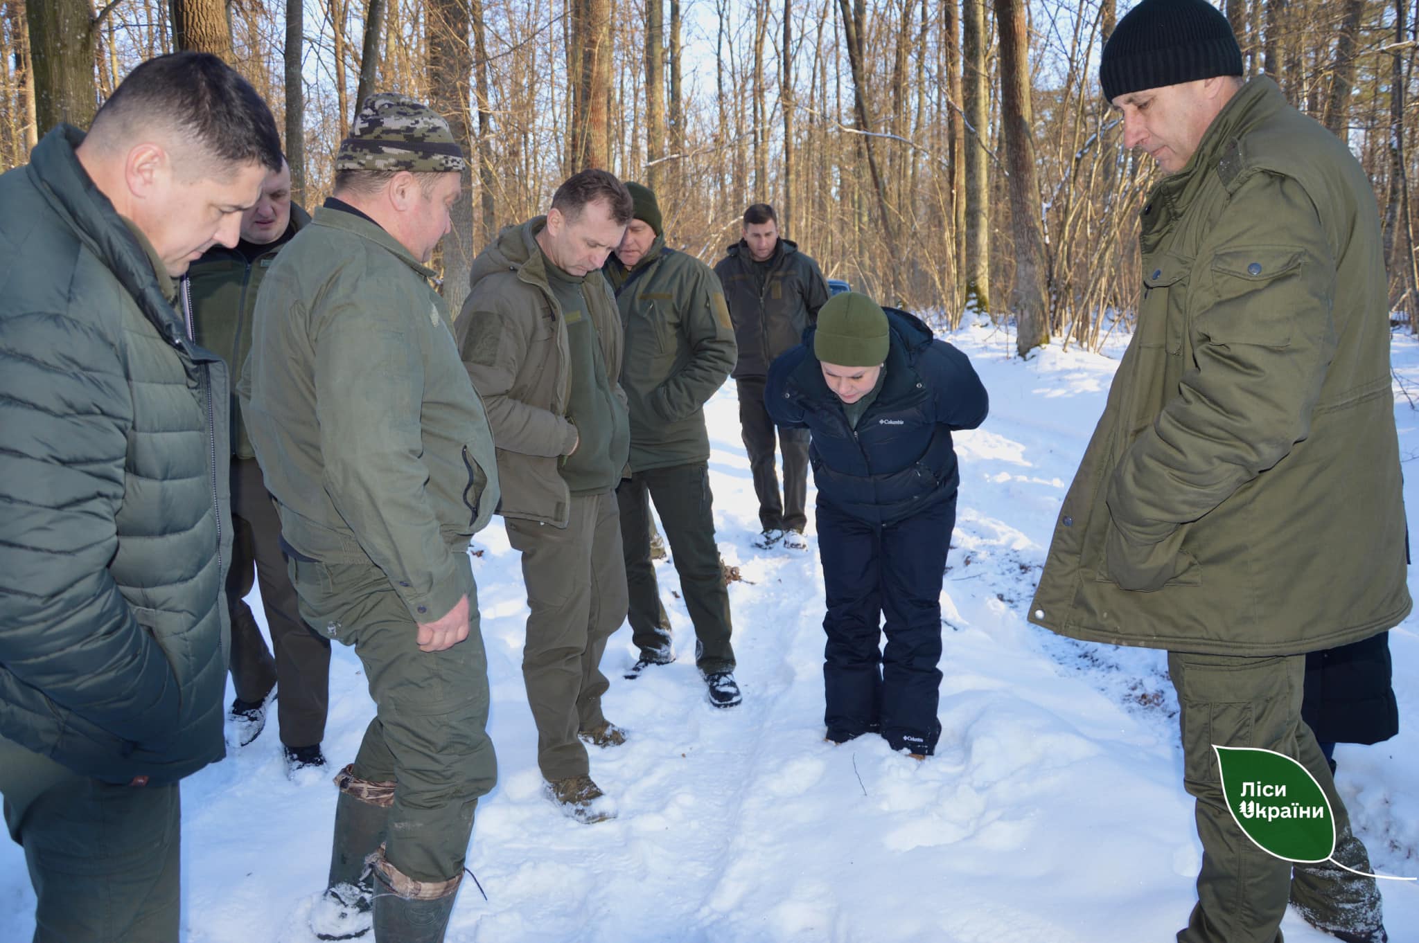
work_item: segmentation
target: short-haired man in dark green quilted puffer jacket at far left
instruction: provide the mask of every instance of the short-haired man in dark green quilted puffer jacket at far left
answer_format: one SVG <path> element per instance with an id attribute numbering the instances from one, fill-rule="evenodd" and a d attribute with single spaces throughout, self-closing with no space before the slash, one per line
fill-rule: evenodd
<path id="1" fill-rule="evenodd" d="M 0 793 L 35 940 L 179 939 L 177 781 L 223 756 L 231 526 L 227 369 L 173 279 L 236 245 L 280 163 L 255 91 L 179 52 L 0 177 Z"/>

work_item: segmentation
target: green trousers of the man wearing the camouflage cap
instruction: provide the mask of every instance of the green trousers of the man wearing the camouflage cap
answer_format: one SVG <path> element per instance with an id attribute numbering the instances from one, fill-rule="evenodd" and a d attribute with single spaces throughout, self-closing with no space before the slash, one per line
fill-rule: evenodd
<path id="1" fill-rule="evenodd" d="M 353 645 L 369 679 L 376 712 L 355 756 L 355 776 L 396 784 L 385 858 L 416 881 L 454 878 L 463 872 L 478 797 L 498 777 L 471 571 L 468 638 L 424 652 L 417 624 L 379 567 L 305 560 L 289 567 L 301 615 Z"/>

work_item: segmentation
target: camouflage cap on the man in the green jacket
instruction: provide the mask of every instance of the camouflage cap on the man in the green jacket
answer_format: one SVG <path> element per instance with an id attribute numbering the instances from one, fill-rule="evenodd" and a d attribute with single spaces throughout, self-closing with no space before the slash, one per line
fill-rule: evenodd
<path id="1" fill-rule="evenodd" d="M 427 105 L 394 92 L 365 99 L 335 156 L 336 170 L 461 173 L 467 166 L 448 122 Z"/>

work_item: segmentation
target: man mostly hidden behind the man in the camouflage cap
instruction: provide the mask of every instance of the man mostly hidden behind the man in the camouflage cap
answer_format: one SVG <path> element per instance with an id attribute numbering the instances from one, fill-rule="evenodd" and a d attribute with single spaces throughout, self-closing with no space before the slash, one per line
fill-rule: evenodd
<path id="1" fill-rule="evenodd" d="M 257 291 L 277 252 L 291 241 L 309 214 L 291 206 L 291 166 L 261 182 L 257 204 L 241 214 L 236 248 L 213 245 L 187 269 L 183 282 L 197 343 L 220 353 L 234 376 L 251 350 L 251 313 Z M 231 391 L 231 567 L 227 570 L 227 611 L 231 615 L 231 683 L 236 699 L 228 710 L 230 739 L 245 746 L 265 726 L 270 698 L 281 679 L 281 743 L 287 773 L 325 764 L 325 712 L 329 702 L 331 640 L 301 621 L 295 587 L 281 553 L 281 520 L 267 493 L 251 440 L 241 423 L 236 389 Z M 261 604 L 275 659 L 267 651 L 245 596 L 261 583 Z"/>

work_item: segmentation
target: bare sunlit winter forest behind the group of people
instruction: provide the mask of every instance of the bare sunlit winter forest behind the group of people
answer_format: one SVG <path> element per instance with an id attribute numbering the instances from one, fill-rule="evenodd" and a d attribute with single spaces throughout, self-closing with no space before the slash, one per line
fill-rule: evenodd
<path id="1" fill-rule="evenodd" d="M 1391 308 L 1416 325 L 1419 0 L 1223 0 L 1247 75 L 1347 139 L 1384 220 Z M 284 126 L 316 206 L 358 104 L 443 112 L 470 170 L 436 265 L 458 311 L 497 231 L 606 167 L 660 197 L 707 262 L 749 203 L 883 302 L 990 318 L 1023 356 L 1128 329 L 1156 170 L 1098 89 L 1115 0 L 0 0 L 0 169 L 85 128 L 138 62 L 216 52 Z"/>

